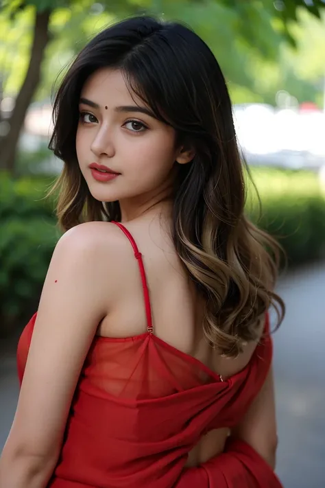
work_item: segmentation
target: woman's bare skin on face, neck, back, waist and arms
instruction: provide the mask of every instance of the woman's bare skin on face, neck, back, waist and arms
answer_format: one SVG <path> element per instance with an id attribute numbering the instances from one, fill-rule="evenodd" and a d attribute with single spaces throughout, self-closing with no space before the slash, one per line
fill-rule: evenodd
<path id="1" fill-rule="evenodd" d="M 129 93 L 119 71 L 95 73 L 82 97 L 98 107 L 80 104 L 80 170 L 94 198 L 119 200 L 123 224 L 139 249 L 145 249 L 155 334 L 223 377 L 237 373 L 248 364 L 256 344 L 248 344 L 235 360 L 221 358 L 208 347 L 201 326 L 204 303 L 169 236 L 173 174 L 177 165 L 193 159 L 193 149 L 176 148 L 173 129 L 154 117 L 118 108 L 136 106 L 134 100 L 144 107 Z M 95 181 L 88 168 L 95 161 L 119 176 L 108 183 Z M 65 233 L 45 279 L 19 404 L 0 458 L 1 487 L 47 486 L 95 334 L 134 336 L 144 332 L 145 323 L 139 270 L 123 233 L 107 222 L 88 222 Z M 189 452 L 187 465 L 223 452 L 228 433 L 209 432 Z M 272 374 L 235 433 L 274 465 Z"/>

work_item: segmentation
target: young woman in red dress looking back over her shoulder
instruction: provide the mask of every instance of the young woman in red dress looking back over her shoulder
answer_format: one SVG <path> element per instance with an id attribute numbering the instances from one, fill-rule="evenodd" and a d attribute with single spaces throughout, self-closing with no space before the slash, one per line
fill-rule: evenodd
<path id="1" fill-rule="evenodd" d="M 179 23 L 113 25 L 54 114 L 66 232 L 19 342 L 1 488 L 280 487 L 276 244 L 245 216 L 210 49 Z"/>

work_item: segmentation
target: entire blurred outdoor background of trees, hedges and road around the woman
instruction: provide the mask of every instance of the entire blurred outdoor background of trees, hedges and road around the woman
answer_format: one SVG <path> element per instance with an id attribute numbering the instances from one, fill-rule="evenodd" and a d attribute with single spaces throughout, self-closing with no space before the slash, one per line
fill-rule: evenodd
<path id="1" fill-rule="evenodd" d="M 247 211 L 285 248 L 274 334 L 278 467 L 285 488 L 325 486 L 325 1 L 0 1 L 0 450 L 18 396 L 15 349 L 58 237 L 45 192 L 51 93 L 104 26 L 130 14 L 178 19 L 224 71 L 239 144 L 261 197 Z M 55 91 L 55 87 L 54 87 Z M 265 487 L 266 488 L 266 487 Z"/>

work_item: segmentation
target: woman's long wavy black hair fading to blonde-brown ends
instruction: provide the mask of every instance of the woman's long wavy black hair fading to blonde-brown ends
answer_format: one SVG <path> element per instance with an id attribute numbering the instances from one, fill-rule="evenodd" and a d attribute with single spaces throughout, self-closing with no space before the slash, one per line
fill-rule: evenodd
<path id="1" fill-rule="evenodd" d="M 172 237 L 197 291 L 204 297 L 208 342 L 236 357 L 258 340 L 260 319 L 273 306 L 278 325 L 285 305 L 274 292 L 280 247 L 245 216 L 245 170 L 232 106 L 221 69 L 189 27 L 140 16 L 112 25 L 75 58 L 54 102 L 49 148 L 64 161 L 58 191 L 60 226 L 121 219 L 119 202 L 91 196 L 77 161 L 79 99 L 87 78 L 103 67 L 120 69 L 156 117 L 195 150 L 179 165 L 173 194 Z"/>

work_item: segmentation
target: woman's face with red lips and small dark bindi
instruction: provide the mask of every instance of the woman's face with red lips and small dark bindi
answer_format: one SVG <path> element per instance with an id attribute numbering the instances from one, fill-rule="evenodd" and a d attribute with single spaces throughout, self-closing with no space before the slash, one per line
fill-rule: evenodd
<path id="1" fill-rule="evenodd" d="M 169 184 L 175 161 L 186 162 L 175 130 L 132 97 L 121 71 L 112 69 L 84 84 L 76 150 L 89 190 L 102 202 L 150 200 Z"/>

